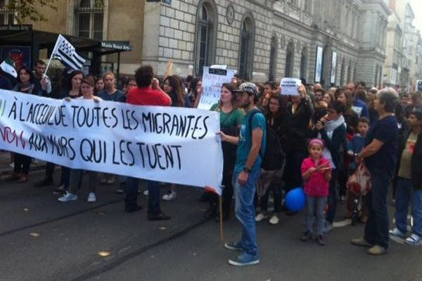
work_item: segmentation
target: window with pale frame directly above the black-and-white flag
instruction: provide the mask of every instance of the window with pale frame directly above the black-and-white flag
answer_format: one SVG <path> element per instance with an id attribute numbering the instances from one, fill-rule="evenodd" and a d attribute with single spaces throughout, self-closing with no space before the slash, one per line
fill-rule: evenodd
<path id="1" fill-rule="evenodd" d="M 77 6 L 77 36 L 103 39 L 103 8 L 95 0 L 81 0 Z"/>

